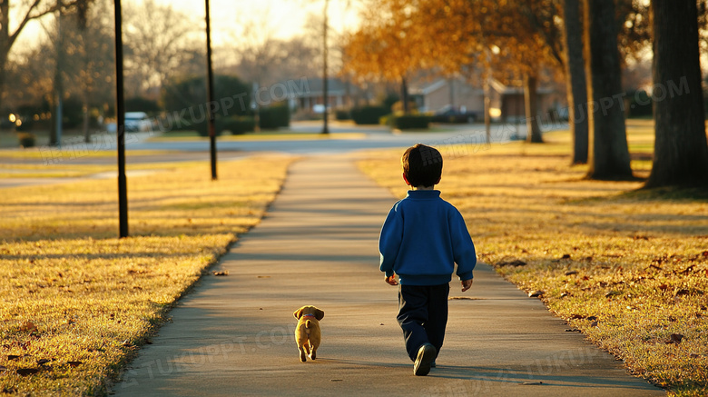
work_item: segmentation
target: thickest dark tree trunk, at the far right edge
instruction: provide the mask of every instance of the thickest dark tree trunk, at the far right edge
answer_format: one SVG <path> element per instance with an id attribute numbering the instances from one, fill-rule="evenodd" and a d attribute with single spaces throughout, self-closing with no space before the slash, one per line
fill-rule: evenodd
<path id="1" fill-rule="evenodd" d="M 708 187 L 694 0 L 653 0 L 654 165 L 645 187 Z"/>

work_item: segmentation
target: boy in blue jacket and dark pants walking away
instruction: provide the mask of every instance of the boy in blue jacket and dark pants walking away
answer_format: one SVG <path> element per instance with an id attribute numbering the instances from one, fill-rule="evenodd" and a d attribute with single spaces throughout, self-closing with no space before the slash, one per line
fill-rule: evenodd
<path id="1" fill-rule="evenodd" d="M 463 293 L 472 286 L 477 264 L 465 220 L 434 190 L 442 163 L 433 147 L 416 144 L 406 150 L 401 157 L 403 180 L 411 189 L 393 205 L 379 237 L 380 270 L 386 273 L 386 283 L 400 283 L 397 319 L 417 376 L 430 372 L 442 347 L 455 263 Z"/>

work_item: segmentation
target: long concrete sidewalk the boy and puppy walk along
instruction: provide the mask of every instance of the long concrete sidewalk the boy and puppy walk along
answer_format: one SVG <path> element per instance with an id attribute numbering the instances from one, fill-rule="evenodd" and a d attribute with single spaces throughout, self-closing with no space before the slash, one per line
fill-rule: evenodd
<path id="1" fill-rule="evenodd" d="M 120 396 L 651 396 L 661 389 L 565 332 L 562 320 L 485 264 L 453 281 L 438 368 L 413 375 L 397 289 L 379 273 L 377 240 L 395 199 L 346 157 L 294 164 L 265 219 L 172 311 L 114 385 Z M 301 305 L 324 310 L 318 359 L 300 362 Z"/>

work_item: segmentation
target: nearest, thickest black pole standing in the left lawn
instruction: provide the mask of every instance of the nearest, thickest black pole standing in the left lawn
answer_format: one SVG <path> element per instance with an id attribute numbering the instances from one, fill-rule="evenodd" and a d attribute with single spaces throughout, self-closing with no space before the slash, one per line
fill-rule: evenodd
<path id="1" fill-rule="evenodd" d="M 125 178 L 125 106 L 123 104 L 123 28 L 121 0 L 115 6 L 115 131 L 118 150 L 118 225 L 120 238 L 128 237 L 128 181 Z"/>

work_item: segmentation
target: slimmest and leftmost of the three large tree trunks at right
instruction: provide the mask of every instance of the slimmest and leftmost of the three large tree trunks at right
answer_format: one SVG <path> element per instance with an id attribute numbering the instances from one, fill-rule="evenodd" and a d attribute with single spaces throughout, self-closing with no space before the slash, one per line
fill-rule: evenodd
<path id="1" fill-rule="evenodd" d="M 577 0 L 565 0 L 565 87 L 568 100 L 568 124 L 573 140 L 571 164 L 587 163 L 587 117 L 582 106 L 587 101 L 585 61 L 583 60 L 583 25 Z"/>

